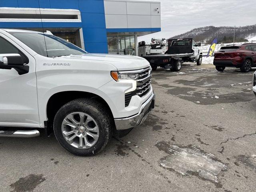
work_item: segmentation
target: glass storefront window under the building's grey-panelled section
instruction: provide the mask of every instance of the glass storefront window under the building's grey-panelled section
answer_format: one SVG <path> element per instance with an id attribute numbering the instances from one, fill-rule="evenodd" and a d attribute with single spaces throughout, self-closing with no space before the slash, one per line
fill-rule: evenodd
<path id="1" fill-rule="evenodd" d="M 108 53 L 136 55 L 134 35 L 108 35 Z"/>

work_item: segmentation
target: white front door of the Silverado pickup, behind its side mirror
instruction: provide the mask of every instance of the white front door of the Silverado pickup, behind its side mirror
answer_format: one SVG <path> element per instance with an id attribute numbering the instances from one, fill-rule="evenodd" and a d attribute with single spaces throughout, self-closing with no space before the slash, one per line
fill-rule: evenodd
<path id="1" fill-rule="evenodd" d="M 29 72 L 19 75 L 0 69 L 0 126 L 39 127 L 36 88 L 36 61 L 16 42 L 0 33 L 0 54 L 20 54 Z"/>

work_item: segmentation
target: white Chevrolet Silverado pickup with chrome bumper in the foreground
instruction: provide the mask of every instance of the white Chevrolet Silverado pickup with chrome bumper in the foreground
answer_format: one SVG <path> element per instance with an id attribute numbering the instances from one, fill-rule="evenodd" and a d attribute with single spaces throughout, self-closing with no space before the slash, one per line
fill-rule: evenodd
<path id="1" fill-rule="evenodd" d="M 89 54 L 50 33 L 0 29 L 0 136 L 54 132 L 69 152 L 100 152 L 154 108 L 152 69 L 136 56 Z"/>

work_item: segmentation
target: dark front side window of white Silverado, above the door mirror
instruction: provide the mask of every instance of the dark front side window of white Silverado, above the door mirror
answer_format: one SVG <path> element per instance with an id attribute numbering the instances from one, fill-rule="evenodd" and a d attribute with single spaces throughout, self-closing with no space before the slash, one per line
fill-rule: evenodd
<path id="1" fill-rule="evenodd" d="M 15 46 L 10 44 L 10 42 L 3 39 L 2 37 L 0 37 L 0 45 L 1 45 L 0 54 L 10 54 L 10 53 L 20 54 L 23 62 L 28 63 L 28 58 L 22 52 L 20 52 Z"/>

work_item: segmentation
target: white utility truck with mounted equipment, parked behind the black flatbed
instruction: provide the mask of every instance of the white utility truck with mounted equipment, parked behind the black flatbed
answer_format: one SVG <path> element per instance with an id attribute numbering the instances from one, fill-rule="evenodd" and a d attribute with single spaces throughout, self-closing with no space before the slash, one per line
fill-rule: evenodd
<path id="1" fill-rule="evenodd" d="M 166 39 L 151 39 L 151 44 L 146 44 L 145 41 L 139 42 L 138 55 L 156 55 L 164 54 L 167 51 Z"/>

